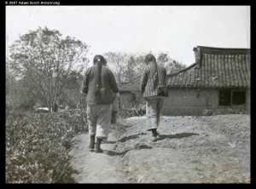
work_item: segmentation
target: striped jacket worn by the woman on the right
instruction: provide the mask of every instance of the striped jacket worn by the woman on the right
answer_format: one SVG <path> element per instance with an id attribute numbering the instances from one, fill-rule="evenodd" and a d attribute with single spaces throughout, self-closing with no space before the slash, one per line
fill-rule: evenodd
<path id="1" fill-rule="evenodd" d="M 150 62 L 143 72 L 140 81 L 140 91 L 143 93 L 143 97 L 157 96 L 158 87 L 166 89 L 166 68 L 158 64 L 156 65 L 159 77 L 154 62 Z M 167 89 L 165 96 L 168 96 Z"/>

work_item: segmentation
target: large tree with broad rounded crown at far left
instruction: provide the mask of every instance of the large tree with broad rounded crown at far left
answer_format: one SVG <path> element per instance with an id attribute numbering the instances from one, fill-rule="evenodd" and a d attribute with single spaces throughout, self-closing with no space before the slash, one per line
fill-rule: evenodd
<path id="1" fill-rule="evenodd" d="M 52 109 L 62 89 L 88 64 L 88 46 L 56 30 L 39 27 L 10 46 L 9 68 L 31 98 Z"/>

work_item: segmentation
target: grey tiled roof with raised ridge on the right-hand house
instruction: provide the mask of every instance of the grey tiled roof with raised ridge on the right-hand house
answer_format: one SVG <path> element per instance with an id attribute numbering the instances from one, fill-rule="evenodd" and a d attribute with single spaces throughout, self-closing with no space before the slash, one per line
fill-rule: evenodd
<path id="1" fill-rule="evenodd" d="M 196 63 L 168 75 L 167 85 L 177 88 L 249 88 L 250 49 L 197 47 Z"/>

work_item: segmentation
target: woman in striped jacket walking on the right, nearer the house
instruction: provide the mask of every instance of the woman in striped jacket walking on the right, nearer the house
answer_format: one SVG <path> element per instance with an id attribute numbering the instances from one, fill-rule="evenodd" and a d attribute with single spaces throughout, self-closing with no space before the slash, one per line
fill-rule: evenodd
<path id="1" fill-rule="evenodd" d="M 146 127 L 152 131 L 152 140 L 156 141 L 159 133 L 156 131 L 160 123 L 164 100 L 168 97 L 166 88 L 166 68 L 158 65 L 153 54 L 145 59 L 146 67 L 140 81 L 140 91 L 146 100 Z"/>

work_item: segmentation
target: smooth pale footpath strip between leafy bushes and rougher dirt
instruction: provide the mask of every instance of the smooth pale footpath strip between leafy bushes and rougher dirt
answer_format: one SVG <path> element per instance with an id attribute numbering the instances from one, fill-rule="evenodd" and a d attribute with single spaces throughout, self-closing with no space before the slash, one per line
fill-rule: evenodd
<path id="1" fill-rule="evenodd" d="M 102 142 L 103 153 L 90 152 L 89 135 L 78 135 L 74 139 L 76 145 L 70 152 L 73 156 L 73 167 L 79 171 L 75 175 L 78 183 L 127 183 L 125 172 L 116 158 L 113 143 L 116 140 L 110 135 L 108 141 Z"/>

